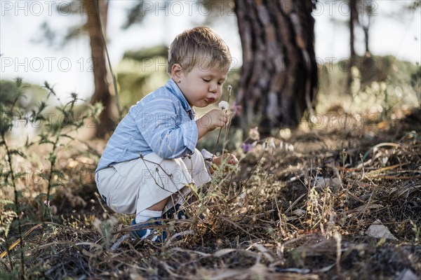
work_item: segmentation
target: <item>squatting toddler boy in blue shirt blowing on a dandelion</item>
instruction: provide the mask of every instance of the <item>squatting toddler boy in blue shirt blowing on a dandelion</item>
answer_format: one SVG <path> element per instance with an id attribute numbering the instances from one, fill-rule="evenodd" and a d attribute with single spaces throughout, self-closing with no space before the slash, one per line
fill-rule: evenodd
<path id="1" fill-rule="evenodd" d="M 187 185 L 211 180 L 203 155 L 196 149 L 201 137 L 224 127 L 228 116 L 213 109 L 195 120 L 193 107 L 218 102 L 227 78 L 229 48 L 212 29 L 196 27 L 179 34 L 168 54 L 166 85 L 131 107 L 116 127 L 95 170 L 102 199 L 114 211 L 136 214 L 132 235 L 161 242 L 151 225 L 165 217 L 185 218 L 180 209 Z M 229 164 L 238 162 L 229 155 Z M 213 158 L 215 163 L 220 158 Z"/>

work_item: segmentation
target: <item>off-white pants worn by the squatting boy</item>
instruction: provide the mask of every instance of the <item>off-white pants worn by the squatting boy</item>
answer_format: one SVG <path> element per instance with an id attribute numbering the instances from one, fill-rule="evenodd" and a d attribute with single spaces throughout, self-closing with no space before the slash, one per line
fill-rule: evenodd
<path id="1" fill-rule="evenodd" d="M 197 149 L 189 157 L 173 160 L 163 160 L 149 153 L 95 174 L 102 199 L 121 214 L 139 213 L 173 194 L 187 195 L 189 188 L 183 188 L 187 184 L 199 187 L 210 180 L 203 156 Z M 171 207 L 172 201 L 168 204 L 167 207 Z"/>

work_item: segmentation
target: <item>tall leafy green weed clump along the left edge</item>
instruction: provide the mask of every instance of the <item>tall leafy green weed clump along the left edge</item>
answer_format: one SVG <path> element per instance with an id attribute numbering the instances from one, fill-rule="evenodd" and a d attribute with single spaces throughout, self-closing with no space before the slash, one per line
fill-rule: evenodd
<path id="1" fill-rule="evenodd" d="M 25 271 L 25 255 L 24 251 L 27 251 L 27 241 L 25 238 L 27 235 L 30 234 L 35 229 L 41 228 L 42 222 L 45 220 L 45 216 L 49 209 L 53 188 L 62 185 L 60 183 L 60 179 L 65 179 L 65 174 L 60 171 L 56 165 L 58 162 L 58 152 L 59 149 L 65 147 L 62 139 L 70 139 L 71 141 L 74 140 L 70 133 L 74 132 L 81 128 L 88 118 L 97 118 L 98 113 L 100 111 L 100 106 L 91 106 L 88 105 L 88 112 L 86 115 L 83 116 L 76 116 L 75 105 L 76 102 L 80 101 L 77 97 L 76 93 L 71 94 L 71 99 L 67 103 L 62 103 L 58 94 L 55 93 L 53 87 L 51 87 L 47 82 L 44 84 L 44 87 L 48 91 L 46 95 L 46 100 L 39 102 L 35 108 L 31 109 L 29 116 L 24 109 L 22 109 L 18 104 L 20 104 L 20 99 L 24 99 L 24 89 L 25 85 L 22 83 L 22 78 L 15 79 L 15 92 L 11 94 L 12 98 L 5 98 L 2 99 L 0 102 L 0 149 L 1 151 L 5 152 L 6 154 L 6 162 L 0 162 L 0 187 L 4 188 L 7 191 L 8 188 L 13 190 L 13 200 L 1 200 L 0 209 L 1 209 L 1 218 L 0 218 L 0 240 L 1 240 L 1 258 L 7 255 L 9 260 L 8 267 L 6 270 L 11 274 L 6 274 L 11 276 L 12 278 L 20 278 L 25 279 L 27 274 L 30 272 Z M 2 92 L 3 93 L 3 92 Z M 51 114 L 44 113 L 46 108 L 48 107 L 47 100 L 49 97 L 53 95 L 55 99 L 59 102 L 59 106 L 55 107 L 55 110 L 60 112 L 60 116 L 58 120 L 51 120 L 46 118 L 46 116 L 51 116 Z M 4 97 L 4 96 L 3 96 Z M 76 118 L 77 117 L 77 118 Z M 11 141 L 8 137 L 8 134 L 13 130 L 15 127 L 15 120 L 25 120 L 26 123 L 46 123 L 44 127 L 40 128 L 39 132 L 39 139 L 34 139 L 33 141 L 29 141 L 27 139 L 26 143 L 21 147 L 17 146 L 15 142 Z M 29 148 L 31 146 L 40 146 L 43 144 L 49 145 L 49 153 L 46 160 L 49 162 L 48 172 L 46 173 L 37 173 L 36 176 L 41 177 L 44 179 L 46 183 L 46 193 L 40 193 L 37 196 L 39 205 L 41 207 L 40 213 L 40 220 L 36 219 L 32 221 L 31 216 L 27 215 L 28 212 L 30 213 L 31 209 L 25 205 L 22 201 L 24 195 L 22 194 L 22 188 L 20 188 L 20 183 L 18 182 L 19 179 L 25 181 L 23 178 L 27 175 L 26 172 L 18 172 L 16 170 L 17 158 L 23 158 L 27 161 L 27 156 L 23 152 L 23 148 Z M 45 203 L 43 203 L 45 201 Z M 25 220 L 29 220 L 30 223 L 40 223 L 35 225 L 30 230 L 28 230 L 25 235 L 23 234 L 23 223 L 22 217 L 25 216 Z M 51 216 L 51 213 L 50 213 Z M 52 216 L 51 216 L 52 219 Z M 10 246 L 11 242 L 9 239 L 9 232 L 13 230 L 14 221 L 17 222 L 17 230 L 18 230 L 18 237 L 15 242 Z M 13 236 L 16 238 L 16 236 Z M 13 251 L 13 248 L 20 245 L 19 250 Z M 14 253 L 19 254 L 20 260 L 20 270 L 15 268 L 15 258 L 13 257 Z"/>

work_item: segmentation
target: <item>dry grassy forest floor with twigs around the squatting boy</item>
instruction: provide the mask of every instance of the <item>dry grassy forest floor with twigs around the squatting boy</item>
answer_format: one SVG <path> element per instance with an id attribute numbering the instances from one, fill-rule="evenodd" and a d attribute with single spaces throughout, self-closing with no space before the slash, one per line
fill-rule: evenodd
<path id="1" fill-rule="evenodd" d="M 51 202 L 51 219 L 24 225 L 32 229 L 24 239 L 25 274 L 420 279 L 420 116 L 418 110 L 393 122 L 297 130 L 274 139 L 274 147 L 238 154 L 241 169 L 217 171 L 191 202 L 191 218 L 166 222 L 166 230 L 184 235 L 163 246 L 122 240 L 133 217 L 113 214 L 96 195 L 96 162 L 88 154 L 98 155 L 104 141 L 83 153 L 69 149 L 60 162 L 72 176 Z M 8 238 L 17 236 L 12 227 Z M 1 259 L 3 275 L 20 266 L 18 248 Z"/>

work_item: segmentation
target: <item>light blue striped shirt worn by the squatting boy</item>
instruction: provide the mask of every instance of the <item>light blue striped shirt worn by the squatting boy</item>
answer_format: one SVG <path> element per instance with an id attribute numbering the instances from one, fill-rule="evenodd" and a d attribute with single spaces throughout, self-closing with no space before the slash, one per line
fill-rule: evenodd
<path id="1" fill-rule="evenodd" d="M 95 172 L 148 153 L 164 159 L 192 155 L 197 137 L 194 111 L 171 78 L 131 106 L 108 140 Z"/>

